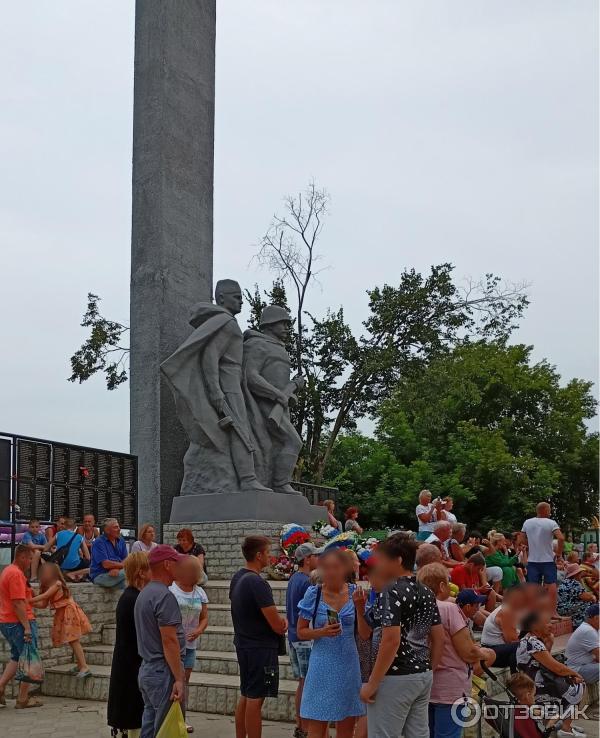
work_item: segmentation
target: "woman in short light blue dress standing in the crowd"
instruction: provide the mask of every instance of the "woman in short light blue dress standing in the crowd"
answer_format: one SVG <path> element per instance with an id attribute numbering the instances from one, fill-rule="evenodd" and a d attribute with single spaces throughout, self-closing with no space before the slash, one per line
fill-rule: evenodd
<path id="1" fill-rule="evenodd" d="M 337 738 L 352 738 L 356 719 L 365 714 L 354 637 L 356 585 L 347 582 L 348 561 L 339 549 L 325 552 L 319 569 L 322 585 L 309 587 L 298 604 L 298 638 L 313 641 L 300 717 L 308 721 L 308 738 L 322 738 L 330 722 Z"/>

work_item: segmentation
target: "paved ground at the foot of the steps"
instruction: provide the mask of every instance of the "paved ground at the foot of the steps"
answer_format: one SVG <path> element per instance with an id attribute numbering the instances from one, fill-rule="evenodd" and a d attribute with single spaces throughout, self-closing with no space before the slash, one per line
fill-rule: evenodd
<path id="1" fill-rule="evenodd" d="M 7 738 L 108 738 L 106 702 L 43 697 L 44 706 L 15 710 L 14 701 L 0 709 L 0 736 Z M 233 718 L 228 715 L 189 714 L 197 738 L 234 738 Z M 264 738 L 291 738 L 293 725 L 265 723 Z"/>

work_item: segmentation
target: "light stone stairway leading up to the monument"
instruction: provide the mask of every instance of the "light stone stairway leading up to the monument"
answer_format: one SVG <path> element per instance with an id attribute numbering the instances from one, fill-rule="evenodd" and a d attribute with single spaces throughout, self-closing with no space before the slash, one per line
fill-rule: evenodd
<path id="1" fill-rule="evenodd" d="M 275 603 L 283 611 L 286 582 L 270 582 Z M 76 590 L 78 588 L 72 588 Z M 200 639 L 196 666 L 190 679 L 188 709 L 231 715 L 239 696 L 238 662 L 233 646 L 229 610 L 229 582 L 214 581 L 204 588 L 209 598 L 209 623 Z M 91 617 L 93 622 L 93 617 Z M 55 664 L 46 669 L 43 693 L 57 697 L 106 700 L 115 640 L 115 626 L 101 626 L 99 638 L 85 644 L 92 676 L 84 681 L 68 673 L 71 664 Z M 265 700 L 263 714 L 269 720 L 293 721 L 295 715 L 293 680 L 289 658 L 280 657 L 279 697 Z"/>

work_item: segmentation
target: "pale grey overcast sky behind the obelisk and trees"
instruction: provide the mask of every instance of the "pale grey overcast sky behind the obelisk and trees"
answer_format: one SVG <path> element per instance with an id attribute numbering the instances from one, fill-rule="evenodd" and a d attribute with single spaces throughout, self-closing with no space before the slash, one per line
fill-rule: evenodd
<path id="1" fill-rule="evenodd" d="M 132 0 L 2 3 L 0 430 L 128 449 L 127 386 L 66 381 L 88 291 L 127 321 Z M 518 340 L 598 362 L 596 0 L 218 0 L 215 277 L 287 193 L 332 197 L 313 311 L 452 261 L 531 283 Z M 185 316 L 183 316 L 185 318 Z"/>

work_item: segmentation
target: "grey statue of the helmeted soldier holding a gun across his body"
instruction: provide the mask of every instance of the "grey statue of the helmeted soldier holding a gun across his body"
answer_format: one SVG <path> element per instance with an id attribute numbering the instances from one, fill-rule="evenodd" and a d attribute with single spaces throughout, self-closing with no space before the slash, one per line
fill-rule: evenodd
<path id="1" fill-rule="evenodd" d="M 278 305 L 263 309 L 260 330 L 244 333 L 242 384 L 258 479 L 274 492 L 300 494 L 290 484 L 302 440 L 290 420 L 289 405 L 304 379 L 290 380 L 284 344 L 289 327 L 287 310 Z"/>

